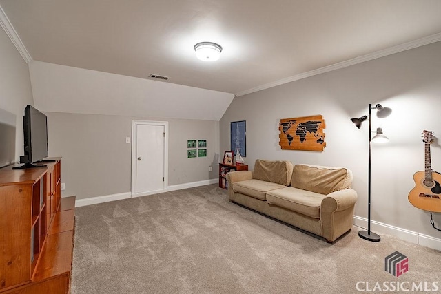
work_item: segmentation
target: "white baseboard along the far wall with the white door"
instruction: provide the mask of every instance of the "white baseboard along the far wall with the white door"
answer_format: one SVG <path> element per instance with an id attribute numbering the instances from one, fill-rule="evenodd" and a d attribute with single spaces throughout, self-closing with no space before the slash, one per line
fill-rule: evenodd
<path id="1" fill-rule="evenodd" d="M 185 184 L 180 185 L 172 185 L 167 187 L 167 189 L 163 190 L 157 190 L 157 191 L 149 191 L 144 193 L 119 193 L 119 194 L 113 194 L 113 195 L 105 195 L 105 196 L 97 196 L 97 197 L 91 197 L 91 198 L 85 198 L 85 199 L 78 199 L 75 200 L 75 207 L 82 207 L 86 205 L 92 205 L 92 204 L 99 204 L 104 202 L 110 202 L 115 200 L 121 200 L 121 199 L 127 199 L 127 198 L 135 198 L 135 197 L 141 197 L 141 196 L 148 196 L 158 193 L 165 193 L 168 191 L 176 191 L 181 189 L 188 189 L 193 187 L 199 187 L 199 186 L 205 186 L 205 185 L 211 185 L 216 184 L 218 182 L 218 179 L 212 179 L 212 180 L 201 180 L 199 182 L 187 182 Z"/>

